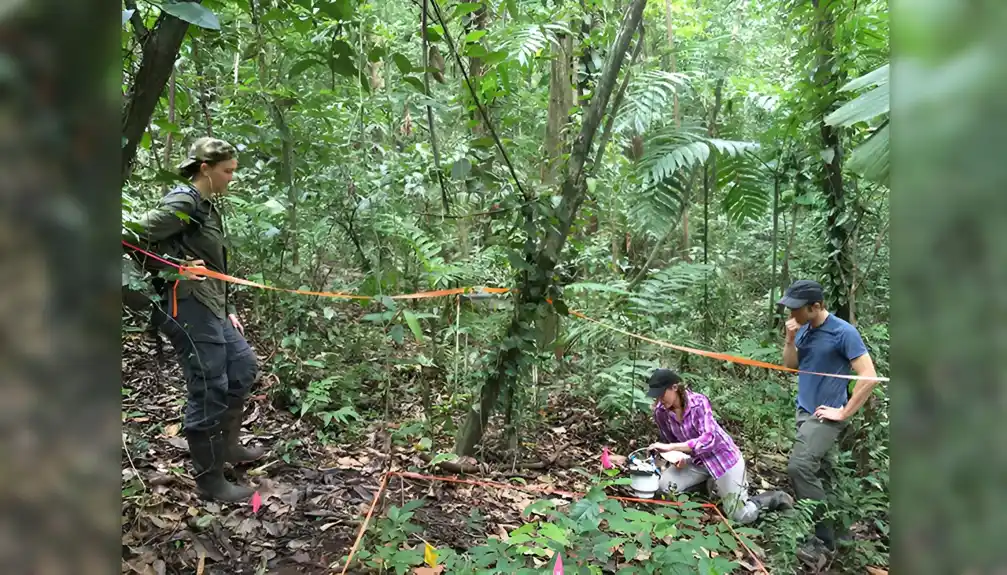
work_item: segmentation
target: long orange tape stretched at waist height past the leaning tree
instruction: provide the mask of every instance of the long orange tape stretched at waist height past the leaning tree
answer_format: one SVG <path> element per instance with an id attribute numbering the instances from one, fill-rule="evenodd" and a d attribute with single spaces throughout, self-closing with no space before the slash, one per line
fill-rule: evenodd
<path id="1" fill-rule="evenodd" d="M 222 280 L 222 281 L 231 282 L 231 283 L 235 283 L 235 284 L 239 284 L 239 285 L 244 285 L 244 286 L 249 286 L 249 287 L 255 287 L 255 288 L 266 289 L 266 290 L 273 290 L 273 291 L 281 291 L 281 292 L 286 292 L 286 293 L 296 293 L 296 294 L 300 294 L 300 295 L 314 295 L 314 296 L 319 296 L 319 297 L 331 297 L 331 298 L 338 298 L 338 299 L 358 299 L 358 300 L 372 300 L 372 299 L 379 299 L 381 297 L 381 296 L 370 296 L 370 295 L 353 295 L 353 294 L 340 293 L 340 292 L 308 291 L 308 290 L 300 290 L 300 289 L 286 289 L 286 288 L 278 288 L 278 287 L 273 287 L 273 286 L 267 286 L 267 285 L 264 285 L 264 284 L 261 284 L 261 283 L 257 283 L 257 282 L 253 282 L 253 281 L 250 281 L 250 280 L 246 280 L 246 279 L 242 279 L 242 278 L 236 278 L 234 276 L 229 276 L 227 274 L 222 274 L 220 272 L 214 272 L 213 270 L 209 270 L 209 269 L 206 269 L 206 268 L 201 267 L 201 266 L 182 266 L 182 265 L 179 265 L 179 264 L 174 264 L 174 263 L 171 263 L 171 262 L 169 262 L 167 260 L 164 260 L 164 259 L 162 259 L 162 258 L 160 258 L 160 257 L 158 257 L 158 256 L 156 256 L 154 254 L 151 254 L 150 252 L 147 252 L 145 250 L 137 248 L 136 246 L 133 246 L 133 245 L 127 243 L 126 241 L 123 241 L 123 245 L 126 246 L 127 248 L 130 248 L 130 249 L 136 251 L 136 252 L 139 252 L 141 254 L 149 256 L 149 257 L 151 257 L 151 258 L 153 258 L 153 259 L 155 259 L 155 260 L 157 260 L 157 261 L 159 261 L 159 262 L 161 262 L 163 264 L 166 264 L 166 265 L 169 265 L 169 266 L 171 266 L 173 268 L 176 268 L 182 274 L 186 274 L 186 275 L 190 275 L 190 276 L 196 276 L 196 277 L 198 277 L 198 276 L 204 276 L 204 277 L 214 278 L 214 279 L 219 279 L 219 280 Z M 462 287 L 462 288 L 452 288 L 452 289 L 442 289 L 442 290 L 436 290 L 436 291 L 425 291 L 425 292 L 418 292 L 418 293 L 410 293 L 410 294 L 403 294 L 403 295 L 393 295 L 393 296 L 389 296 L 389 297 L 391 297 L 391 299 L 424 299 L 424 298 L 430 298 L 430 297 L 444 297 L 444 296 L 449 296 L 449 295 L 460 295 L 460 294 L 465 294 L 465 293 L 479 293 L 479 292 L 481 292 L 481 293 L 503 294 L 503 293 L 510 293 L 511 291 L 514 291 L 514 290 L 511 290 L 509 288 L 493 288 L 493 287 Z M 552 304 L 552 300 L 547 299 L 546 301 L 548 301 L 550 304 Z M 769 364 L 767 362 L 759 362 L 758 360 L 749 360 L 747 357 L 740 357 L 738 355 L 731 355 L 729 353 L 721 353 L 719 351 L 707 351 L 705 349 L 697 349 L 695 347 L 686 347 L 685 345 L 677 345 L 675 343 L 670 343 L 668 341 L 662 341 L 660 339 L 653 339 L 651 337 L 646 337 L 645 335 L 640 335 L 638 333 L 633 333 L 631 331 L 626 331 L 624 329 L 620 329 L 618 327 L 615 327 L 614 325 L 609 325 L 609 324 L 604 323 L 602 321 L 598 321 L 597 319 L 590 318 L 590 317 L 584 315 L 583 313 L 581 313 L 579 311 L 575 311 L 575 310 L 571 309 L 571 310 L 569 310 L 569 312 L 570 312 L 570 315 L 573 315 L 574 317 L 578 317 L 578 318 L 583 319 L 585 321 L 590 321 L 592 323 L 596 323 L 596 324 L 598 324 L 598 325 L 600 325 L 600 326 L 602 326 L 602 327 L 604 327 L 606 329 L 611 329 L 612 331 L 621 333 L 623 335 L 627 335 L 629 337 L 635 337 L 636 339 L 639 339 L 641 341 L 646 341 L 646 342 L 654 343 L 656 345 L 661 345 L 663 347 L 668 347 L 668 348 L 671 348 L 671 349 L 677 349 L 679 351 L 685 351 L 686 353 L 694 353 L 696 355 L 703 355 L 705 357 L 712 357 L 714 360 L 720 360 L 722 362 L 730 362 L 730 363 L 733 363 L 733 364 L 741 364 L 743 366 L 752 366 L 752 367 L 755 367 L 755 368 L 764 368 L 766 370 L 775 370 L 777 372 L 786 372 L 786 373 L 789 373 L 789 374 L 809 374 L 809 375 L 812 375 L 812 376 L 824 376 L 824 377 L 827 377 L 827 378 L 839 378 L 841 380 L 862 380 L 862 381 L 865 381 L 865 382 L 887 382 L 887 381 L 889 381 L 888 378 L 881 378 L 881 377 L 877 377 L 877 376 L 874 376 L 874 377 L 862 377 L 862 376 L 850 376 L 850 375 L 845 375 L 845 374 L 823 374 L 823 373 L 820 373 L 820 372 L 809 372 L 809 371 L 805 371 L 805 370 L 795 370 L 793 368 L 786 368 L 784 366 L 777 366 L 776 364 Z"/>

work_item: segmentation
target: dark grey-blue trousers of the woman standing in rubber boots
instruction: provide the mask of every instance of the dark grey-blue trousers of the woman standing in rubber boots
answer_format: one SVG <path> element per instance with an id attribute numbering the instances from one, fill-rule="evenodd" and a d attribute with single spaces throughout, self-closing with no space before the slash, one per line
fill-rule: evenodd
<path id="1" fill-rule="evenodd" d="M 185 431 L 217 429 L 231 403 L 252 391 L 259 367 L 245 336 L 194 297 L 178 299 L 177 317 L 156 310 L 154 322 L 174 347 L 185 376 Z"/>

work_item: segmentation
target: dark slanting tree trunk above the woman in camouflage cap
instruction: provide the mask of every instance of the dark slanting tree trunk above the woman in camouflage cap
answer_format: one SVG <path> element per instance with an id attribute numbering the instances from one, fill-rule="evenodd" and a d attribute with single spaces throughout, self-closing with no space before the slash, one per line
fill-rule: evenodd
<path id="1" fill-rule="evenodd" d="M 201 0 L 194 1 L 198 4 Z M 178 48 L 181 47 L 187 30 L 188 22 L 162 12 L 144 39 L 140 68 L 126 95 L 126 106 L 123 109 L 123 181 L 129 179 L 133 170 L 137 145 L 154 114 L 164 85 L 171 77 Z"/>

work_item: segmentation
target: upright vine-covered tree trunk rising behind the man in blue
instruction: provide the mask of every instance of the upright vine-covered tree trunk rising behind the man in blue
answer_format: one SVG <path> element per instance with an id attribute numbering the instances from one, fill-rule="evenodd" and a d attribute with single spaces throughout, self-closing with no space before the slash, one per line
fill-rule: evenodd
<path id="1" fill-rule="evenodd" d="M 815 69 L 815 84 L 819 91 L 819 118 L 822 147 L 825 157 L 822 166 L 822 191 L 826 197 L 826 264 L 825 287 L 828 307 L 837 317 L 849 321 L 849 291 L 852 264 L 849 254 L 849 211 L 843 192 L 843 145 L 839 129 L 825 123 L 836 101 L 834 86 L 841 86 L 843 79 L 832 71 L 835 61 L 835 21 L 832 14 L 835 3 L 813 0 L 816 8 L 816 32 L 819 48 Z"/>

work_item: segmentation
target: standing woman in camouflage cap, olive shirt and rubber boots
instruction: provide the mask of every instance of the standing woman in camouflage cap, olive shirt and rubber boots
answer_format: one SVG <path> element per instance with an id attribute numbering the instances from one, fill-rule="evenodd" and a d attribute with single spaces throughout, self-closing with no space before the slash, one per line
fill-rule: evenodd
<path id="1" fill-rule="evenodd" d="M 157 208 L 140 219 L 143 247 L 228 273 L 224 222 L 217 201 L 227 193 L 237 167 L 234 146 L 215 138 L 196 140 L 178 166 L 188 182 L 172 189 Z M 265 449 L 249 449 L 238 441 L 258 366 L 234 303 L 229 301 L 228 283 L 188 278 L 167 282 L 158 292 L 161 303 L 153 321 L 171 340 L 185 376 L 182 429 L 200 495 L 223 501 L 246 499 L 253 490 L 228 481 L 224 463 L 254 461 Z"/>

